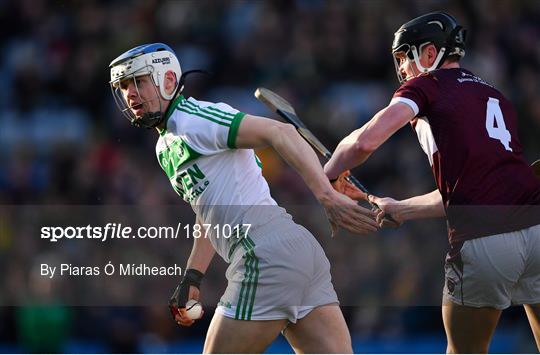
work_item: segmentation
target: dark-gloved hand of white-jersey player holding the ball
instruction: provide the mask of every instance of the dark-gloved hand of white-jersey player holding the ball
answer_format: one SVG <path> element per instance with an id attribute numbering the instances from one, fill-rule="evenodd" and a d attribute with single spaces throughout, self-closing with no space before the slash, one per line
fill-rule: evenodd
<path id="1" fill-rule="evenodd" d="M 199 300 L 199 289 L 204 274 L 195 269 L 187 269 L 180 284 L 176 287 L 169 300 L 169 310 L 176 323 L 189 327 L 195 321 L 186 312 L 186 302 L 188 300 Z"/>

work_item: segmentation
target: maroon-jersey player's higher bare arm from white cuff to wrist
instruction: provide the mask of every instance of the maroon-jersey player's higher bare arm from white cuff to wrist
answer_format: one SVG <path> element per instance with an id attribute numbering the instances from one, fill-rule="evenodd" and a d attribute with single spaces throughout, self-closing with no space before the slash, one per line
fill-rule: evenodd
<path id="1" fill-rule="evenodd" d="M 364 163 L 371 153 L 414 118 L 414 111 L 398 102 L 385 107 L 361 128 L 345 137 L 324 166 L 329 179 Z"/>

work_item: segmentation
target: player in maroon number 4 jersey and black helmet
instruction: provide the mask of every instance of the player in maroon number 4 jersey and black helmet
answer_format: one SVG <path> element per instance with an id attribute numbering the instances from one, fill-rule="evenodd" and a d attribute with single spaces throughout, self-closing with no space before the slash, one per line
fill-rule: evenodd
<path id="1" fill-rule="evenodd" d="M 437 189 L 402 201 L 369 199 L 381 224 L 385 213 L 398 224 L 447 218 L 447 352 L 487 352 L 501 311 L 515 304 L 525 306 L 540 350 L 540 181 L 523 157 L 516 113 L 497 89 L 460 67 L 465 30 L 446 13 L 405 23 L 392 53 L 401 87 L 340 142 L 325 172 L 336 189 L 360 196 L 343 176 L 410 123 Z"/>

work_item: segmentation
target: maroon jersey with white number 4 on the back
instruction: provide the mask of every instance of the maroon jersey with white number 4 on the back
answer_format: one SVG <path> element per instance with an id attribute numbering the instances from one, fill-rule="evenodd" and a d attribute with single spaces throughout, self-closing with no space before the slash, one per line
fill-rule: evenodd
<path id="1" fill-rule="evenodd" d="M 404 83 L 393 102 L 411 122 L 435 175 L 450 243 L 540 223 L 540 181 L 525 161 L 512 104 L 471 72 L 439 69 Z M 474 207 L 473 207 L 474 206 Z"/>

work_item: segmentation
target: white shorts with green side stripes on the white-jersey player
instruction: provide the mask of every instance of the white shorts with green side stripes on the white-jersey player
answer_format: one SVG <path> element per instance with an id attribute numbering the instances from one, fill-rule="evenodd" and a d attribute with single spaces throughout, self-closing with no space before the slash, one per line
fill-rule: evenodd
<path id="1" fill-rule="evenodd" d="M 216 312 L 229 318 L 296 323 L 315 307 L 339 303 L 322 247 L 288 218 L 250 231 L 232 253 L 226 275 Z"/>

